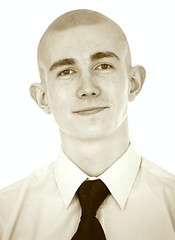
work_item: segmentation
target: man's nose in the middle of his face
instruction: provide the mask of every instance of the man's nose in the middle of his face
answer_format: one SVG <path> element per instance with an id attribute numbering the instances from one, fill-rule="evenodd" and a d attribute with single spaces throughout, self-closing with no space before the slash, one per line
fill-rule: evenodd
<path id="1" fill-rule="evenodd" d="M 93 83 L 92 78 L 79 79 L 81 85 L 77 89 L 76 95 L 78 98 L 86 99 L 98 97 L 100 95 L 100 88 Z"/>

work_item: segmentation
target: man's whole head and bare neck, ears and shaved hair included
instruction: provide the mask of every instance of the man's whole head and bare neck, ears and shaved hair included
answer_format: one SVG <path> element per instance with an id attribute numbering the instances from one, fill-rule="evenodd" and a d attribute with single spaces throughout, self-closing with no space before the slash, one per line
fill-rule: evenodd
<path id="1" fill-rule="evenodd" d="M 66 13 L 49 26 L 38 66 L 33 99 L 53 114 L 65 154 L 88 175 L 100 175 L 129 145 L 128 100 L 140 92 L 144 68 L 131 67 L 121 28 L 90 10 Z"/>

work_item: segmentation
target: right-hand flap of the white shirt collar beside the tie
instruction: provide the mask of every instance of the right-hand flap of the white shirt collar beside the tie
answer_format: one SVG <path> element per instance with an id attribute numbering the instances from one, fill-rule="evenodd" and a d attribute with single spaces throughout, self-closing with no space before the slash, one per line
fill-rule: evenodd
<path id="1" fill-rule="evenodd" d="M 127 151 L 99 178 L 106 184 L 121 209 L 124 209 L 140 168 L 141 157 L 132 143 Z"/>

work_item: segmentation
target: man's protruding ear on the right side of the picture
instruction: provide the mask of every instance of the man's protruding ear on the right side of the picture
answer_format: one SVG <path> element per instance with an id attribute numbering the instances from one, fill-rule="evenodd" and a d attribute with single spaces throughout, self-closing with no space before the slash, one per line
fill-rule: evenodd
<path id="1" fill-rule="evenodd" d="M 145 81 L 146 71 L 144 67 L 137 65 L 132 67 L 130 72 L 130 82 L 128 89 L 128 100 L 133 101 L 142 89 Z"/>

